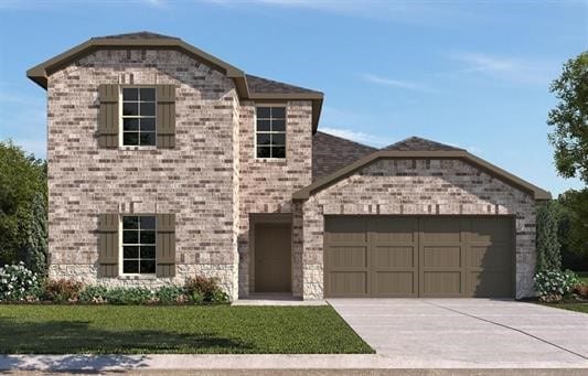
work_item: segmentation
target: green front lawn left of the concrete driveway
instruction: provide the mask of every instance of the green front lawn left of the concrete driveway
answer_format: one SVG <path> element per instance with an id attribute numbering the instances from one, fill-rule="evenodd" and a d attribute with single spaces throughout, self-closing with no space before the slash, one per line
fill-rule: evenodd
<path id="1" fill-rule="evenodd" d="M 374 353 L 328 305 L 0 305 L 0 354 Z"/>

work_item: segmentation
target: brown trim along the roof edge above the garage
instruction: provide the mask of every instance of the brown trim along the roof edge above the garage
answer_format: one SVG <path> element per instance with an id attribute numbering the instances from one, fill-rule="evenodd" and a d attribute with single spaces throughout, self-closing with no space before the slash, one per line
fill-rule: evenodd
<path id="1" fill-rule="evenodd" d="M 409 140 L 409 139 L 407 139 Z M 404 141 L 407 141 L 404 140 Z M 398 143 L 403 143 L 400 141 Z M 462 149 L 453 150 L 378 150 L 373 152 L 351 164 L 348 164 L 335 172 L 314 181 L 312 184 L 301 189 L 298 192 L 295 192 L 292 200 L 295 201 L 304 201 L 308 200 L 311 195 L 324 190 L 328 186 L 333 185 L 334 183 L 351 176 L 353 173 L 360 169 L 374 163 L 381 159 L 457 159 L 462 160 L 469 164 L 477 166 L 478 169 L 484 171 L 485 173 L 505 182 L 509 185 L 515 186 L 523 192 L 527 192 L 534 200 L 550 200 L 552 194 L 547 191 L 542 190 L 541 187 L 522 180 L 521 178 L 511 174 L 507 171 L 502 170 L 501 168 L 484 161 L 481 158 L 478 158 L 473 154 L 470 154 Z"/>

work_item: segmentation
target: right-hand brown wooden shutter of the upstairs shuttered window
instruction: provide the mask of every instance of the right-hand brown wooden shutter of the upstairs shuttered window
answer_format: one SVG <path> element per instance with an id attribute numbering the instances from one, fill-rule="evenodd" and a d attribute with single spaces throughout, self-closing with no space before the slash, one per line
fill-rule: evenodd
<path id="1" fill-rule="evenodd" d="M 157 146 L 175 147 L 175 85 L 157 85 Z"/>

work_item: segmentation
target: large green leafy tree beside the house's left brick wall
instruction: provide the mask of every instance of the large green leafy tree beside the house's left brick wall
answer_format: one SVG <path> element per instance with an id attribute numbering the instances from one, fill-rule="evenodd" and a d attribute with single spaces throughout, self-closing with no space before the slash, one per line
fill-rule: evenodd
<path id="1" fill-rule="evenodd" d="M 0 265 L 46 267 L 46 163 L 0 141 Z M 36 262 L 40 262 L 39 265 Z"/>

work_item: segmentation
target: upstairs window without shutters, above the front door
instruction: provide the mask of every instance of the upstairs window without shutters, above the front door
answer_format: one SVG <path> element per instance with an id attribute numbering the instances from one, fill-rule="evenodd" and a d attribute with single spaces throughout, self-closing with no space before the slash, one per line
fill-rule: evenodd
<path id="1" fill-rule="evenodd" d="M 257 107 L 257 158 L 286 158 L 286 107 Z"/>

